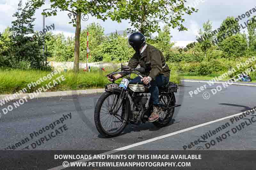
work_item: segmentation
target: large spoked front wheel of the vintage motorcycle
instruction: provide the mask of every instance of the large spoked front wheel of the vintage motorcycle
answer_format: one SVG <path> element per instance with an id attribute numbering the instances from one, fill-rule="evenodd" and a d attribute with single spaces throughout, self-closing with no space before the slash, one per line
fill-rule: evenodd
<path id="1" fill-rule="evenodd" d="M 104 92 L 95 106 L 95 126 L 104 137 L 118 136 L 129 122 L 131 106 L 129 101 L 119 100 L 120 95 L 117 91 Z"/>

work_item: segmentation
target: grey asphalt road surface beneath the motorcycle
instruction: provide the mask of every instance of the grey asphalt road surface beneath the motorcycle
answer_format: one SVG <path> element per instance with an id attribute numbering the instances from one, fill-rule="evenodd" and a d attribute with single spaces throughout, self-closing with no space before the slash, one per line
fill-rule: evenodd
<path id="1" fill-rule="evenodd" d="M 176 108 L 176 117 L 168 126 L 158 129 L 151 123 L 140 124 L 139 126 L 129 125 L 122 135 L 110 139 L 99 135 L 93 122 L 94 107 L 100 94 L 32 99 L 20 105 L 20 107 L 14 107 L 12 111 L 4 115 L 2 109 L 8 105 L 13 106 L 13 102 L 9 102 L 0 107 L 2 114 L 0 118 L 0 128 L 2 129 L 0 131 L 0 148 L 2 150 L 9 146 L 12 148 L 13 145 L 20 142 L 21 144 L 15 146 L 15 150 L 21 150 L 26 147 L 31 150 L 113 150 L 241 113 L 256 106 L 255 87 L 232 85 L 212 95 L 211 90 L 216 85 L 207 86 L 207 89 L 203 92 L 209 92 L 211 96 L 206 100 L 202 97 L 203 92 L 199 92 L 199 94 L 192 97 L 189 95 L 189 91 L 194 91 L 204 85 L 203 83 L 184 83 L 176 95 L 177 104 L 182 106 Z M 71 118 L 68 117 L 70 113 Z M 63 115 L 66 115 L 66 120 L 63 118 L 63 123 L 57 124 L 56 121 L 60 120 Z M 212 139 L 217 141 L 216 137 L 228 130 L 230 131 L 230 136 L 226 137 L 225 140 L 216 142 L 215 145 L 211 145 L 209 149 L 256 149 L 256 138 L 254 137 L 256 135 L 254 131 L 256 123 L 253 124 L 252 122 L 251 125 L 244 126 L 242 130 L 233 133 L 231 129 L 241 122 L 232 124 L 230 119 L 187 130 L 131 149 L 184 150 L 184 145 L 187 147 L 186 150 L 200 149 L 201 147 L 207 149 L 206 143 L 209 143 Z M 39 130 L 53 122 L 55 122 L 53 129 L 44 129 L 45 132 L 40 131 L 42 134 L 39 133 Z M 215 130 L 227 122 L 229 122 L 230 126 L 227 125 L 226 129 L 219 130 L 216 135 L 205 139 L 206 142 L 194 144 L 194 141 L 198 139 L 200 141 L 203 140 L 201 138 L 203 134 L 209 132 L 209 130 Z M 39 143 L 38 139 L 59 127 L 62 128 L 59 129 L 60 133 L 55 134 L 56 137 L 44 141 L 43 144 Z M 38 132 L 39 135 L 36 136 L 34 131 Z M 25 140 L 26 138 L 29 141 Z M 195 146 L 188 146 L 191 142 Z"/>

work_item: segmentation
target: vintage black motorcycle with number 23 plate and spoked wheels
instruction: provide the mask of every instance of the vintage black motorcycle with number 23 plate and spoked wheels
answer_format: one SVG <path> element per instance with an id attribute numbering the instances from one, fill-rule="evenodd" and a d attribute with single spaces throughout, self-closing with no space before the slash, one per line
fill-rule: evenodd
<path id="1" fill-rule="evenodd" d="M 118 70 L 120 70 L 117 72 Z M 120 84 L 112 82 L 105 87 L 105 91 L 99 98 L 94 111 L 94 122 L 96 128 L 104 137 L 118 136 L 127 124 L 140 124 L 148 121 L 153 111 L 153 102 L 150 98 L 150 85 L 141 83 L 130 83 L 131 74 L 137 74 L 141 78 L 144 68 L 130 69 L 121 65 L 121 68 L 106 75 L 112 77 L 114 74 L 125 73 Z M 159 102 L 163 112 L 156 122 L 157 127 L 167 125 L 174 114 L 176 99 L 174 92 L 177 92 L 178 85 L 173 82 L 159 88 Z M 148 99 L 149 98 L 149 99 Z"/>

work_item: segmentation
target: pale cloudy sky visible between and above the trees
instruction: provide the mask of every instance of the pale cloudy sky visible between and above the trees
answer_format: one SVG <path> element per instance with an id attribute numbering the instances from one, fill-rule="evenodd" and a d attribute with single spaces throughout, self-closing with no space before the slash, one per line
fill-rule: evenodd
<path id="1" fill-rule="evenodd" d="M 188 28 L 188 31 L 179 32 L 177 28 L 171 29 L 172 42 L 175 42 L 175 46 L 185 47 L 188 43 L 196 41 L 196 35 L 198 35 L 198 31 L 202 28 L 204 22 L 210 20 L 212 22 L 212 28 L 219 28 L 222 21 L 228 16 L 234 16 L 237 18 L 239 15 L 245 14 L 247 11 L 256 9 L 255 0 L 187 0 L 186 5 L 191 5 L 196 7 L 199 11 L 196 13 L 192 13 L 191 15 L 184 15 L 185 18 L 184 26 Z M 25 3 L 26 0 L 23 0 Z M 253 3 L 254 2 L 254 3 Z M 15 20 L 12 15 L 18 8 L 18 0 L 0 0 L 0 32 L 7 26 L 12 25 L 12 21 Z M 43 9 L 50 8 L 49 0 L 46 0 L 44 6 L 36 11 L 35 14 L 35 31 L 42 31 L 43 29 L 43 17 L 41 15 Z M 245 16 L 242 20 L 239 20 L 240 24 L 243 24 L 253 15 L 256 15 L 256 12 L 252 12 L 250 17 Z M 68 24 L 71 19 L 68 17 L 67 11 L 58 12 L 57 16 L 51 16 L 45 18 L 45 26 L 50 26 L 54 24 L 53 33 L 64 33 L 67 36 L 75 36 L 75 28 L 72 24 Z M 90 23 L 100 23 L 105 29 L 105 34 L 115 32 L 116 30 L 125 30 L 126 28 L 130 28 L 129 20 L 123 20 L 122 23 L 117 23 L 116 21 L 112 21 L 110 19 L 105 22 L 96 19 L 89 15 L 87 21 L 82 21 L 81 26 L 82 29 L 86 27 L 86 25 Z M 243 24 L 244 25 L 244 24 Z M 161 23 L 161 27 L 164 25 Z M 242 29 L 241 32 L 245 31 L 247 33 L 247 28 Z M 157 33 L 152 34 L 156 36 Z"/>

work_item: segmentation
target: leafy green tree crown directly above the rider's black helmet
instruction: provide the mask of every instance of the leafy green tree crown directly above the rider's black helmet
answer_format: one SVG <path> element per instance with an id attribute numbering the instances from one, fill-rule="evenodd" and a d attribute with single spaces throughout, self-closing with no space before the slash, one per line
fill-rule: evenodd
<path id="1" fill-rule="evenodd" d="M 119 23 L 122 19 L 129 19 L 134 27 L 129 28 L 129 32 L 139 31 L 145 36 L 160 32 L 160 22 L 172 28 L 179 26 L 179 31 L 183 31 L 187 28 L 182 25 L 185 21 L 182 15 L 197 12 L 194 8 L 185 7 L 184 2 L 186 1 L 120 0 L 116 4 L 117 10 L 109 11 L 107 16 Z"/>

